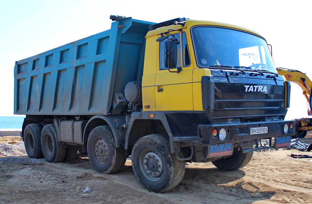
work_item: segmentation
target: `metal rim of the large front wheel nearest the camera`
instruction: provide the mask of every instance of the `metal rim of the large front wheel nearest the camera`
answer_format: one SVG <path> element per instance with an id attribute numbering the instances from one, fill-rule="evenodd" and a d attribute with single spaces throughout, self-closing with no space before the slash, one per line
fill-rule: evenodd
<path id="1" fill-rule="evenodd" d="M 151 149 L 142 151 L 140 168 L 144 176 L 150 181 L 159 181 L 163 176 L 163 161 L 157 152 Z"/>

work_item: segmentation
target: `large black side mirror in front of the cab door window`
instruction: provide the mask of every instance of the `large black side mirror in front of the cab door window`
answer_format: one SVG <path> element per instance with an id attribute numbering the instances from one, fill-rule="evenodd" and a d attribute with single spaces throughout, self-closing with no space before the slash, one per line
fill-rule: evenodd
<path id="1" fill-rule="evenodd" d="M 177 57 L 178 49 L 177 43 L 175 41 L 166 41 L 165 42 L 165 61 L 164 65 L 166 68 L 176 68 L 177 67 Z"/>

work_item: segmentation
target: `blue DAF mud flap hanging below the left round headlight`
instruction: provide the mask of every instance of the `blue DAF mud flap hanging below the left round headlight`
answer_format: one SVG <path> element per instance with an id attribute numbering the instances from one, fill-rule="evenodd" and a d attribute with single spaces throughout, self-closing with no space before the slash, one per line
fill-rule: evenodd
<path id="1" fill-rule="evenodd" d="M 232 155 L 233 150 L 233 143 L 209 145 L 206 158 Z"/>

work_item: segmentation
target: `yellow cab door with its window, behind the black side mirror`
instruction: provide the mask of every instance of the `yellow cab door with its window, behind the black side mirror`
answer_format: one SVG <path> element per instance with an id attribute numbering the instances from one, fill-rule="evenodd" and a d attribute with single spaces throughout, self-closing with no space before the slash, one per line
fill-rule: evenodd
<path id="1" fill-rule="evenodd" d="M 158 111 L 193 110 L 192 78 L 188 43 L 185 32 L 171 34 L 169 40 L 177 43 L 177 67 L 179 73 L 165 67 L 165 42 L 159 43 L 159 66 L 155 78 L 155 102 Z M 177 71 L 177 68 L 170 69 Z"/>

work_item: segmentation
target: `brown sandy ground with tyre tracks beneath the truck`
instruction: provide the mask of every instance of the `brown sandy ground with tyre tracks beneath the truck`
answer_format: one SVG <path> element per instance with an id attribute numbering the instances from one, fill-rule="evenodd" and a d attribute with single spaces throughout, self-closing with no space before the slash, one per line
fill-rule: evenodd
<path id="1" fill-rule="evenodd" d="M 0 137 L 0 143 L 18 140 Z M 312 138 L 304 142 L 311 144 Z M 142 187 L 129 159 L 122 171 L 104 175 L 92 169 L 87 155 L 67 163 L 0 156 L 0 203 L 312 203 L 312 160 L 290 154 L 312 152 L 254 152 L 236 171 L 187 163 L 182 182 L 165 193 Z M 83 192 L 86 186 L 90 192 Z"/>

